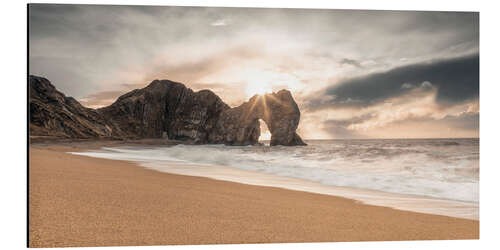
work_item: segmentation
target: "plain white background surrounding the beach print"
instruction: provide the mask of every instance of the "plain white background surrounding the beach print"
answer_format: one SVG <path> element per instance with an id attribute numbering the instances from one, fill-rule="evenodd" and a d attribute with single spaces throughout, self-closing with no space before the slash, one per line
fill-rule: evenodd
<path id="1" fill-rule="evenodd" d="M 31 1 L 33 3 L 43 1 Z M 170 247 L 133 247 L 128 249 L 493 249 L 500 246 L 498 168 L 498 114 L 499 76 L 498 46 L 500 9 L 495 1 L 453 0 L 349 0 L 349 1 L 57 1 L 50 3 L 86 4 L 141 4 L 182 6 L 234 6 L 234 7 L 293 7 L 335 9 L 389 9 L 389 10 L 441 10 L 480 12 L 480 240 L 467 241 L 413 241 L 413 242 L 356 242 L 356 243 L 303 243 L 259 245 L 205 245 Z M 24 1 L 2 1 L 1 4 L 1 74 L 0 74 L 0 246 L 3 249 L 26 247 L 27 237 L 27 4 Z M 96 248 L 85 248 L 96 249 Z M 124 248 L 105 248 L 124 249 Z"/>

